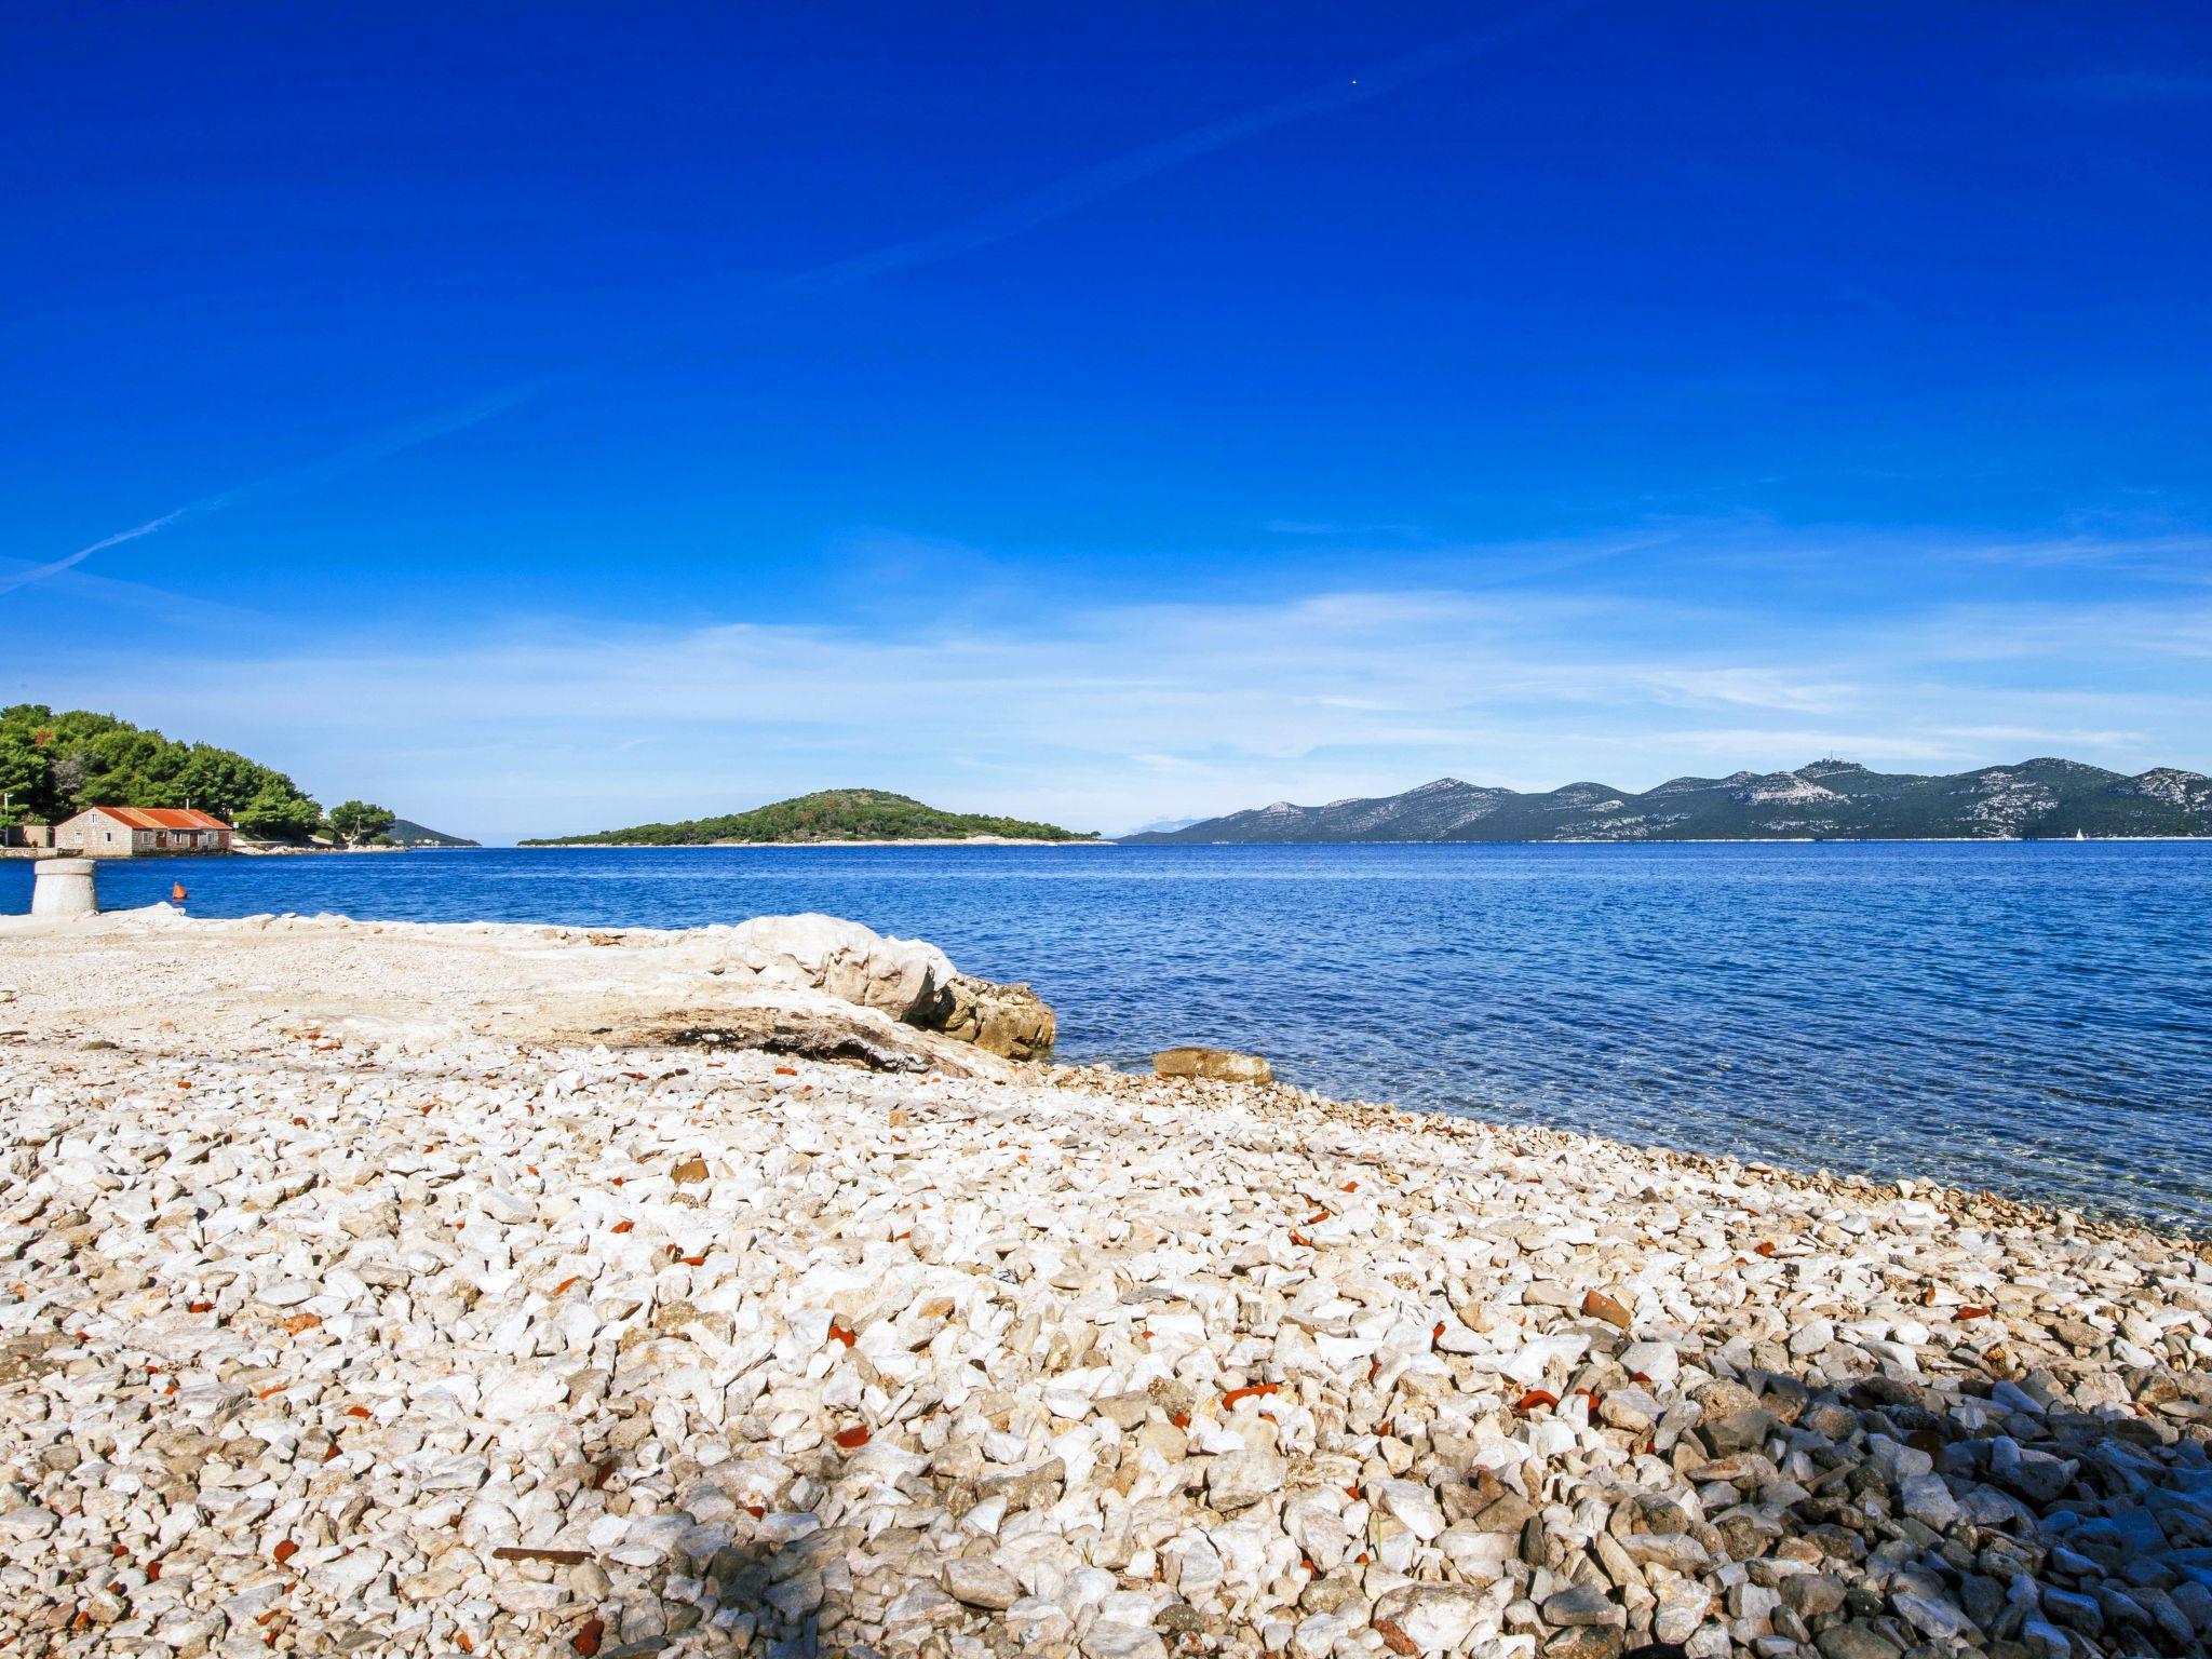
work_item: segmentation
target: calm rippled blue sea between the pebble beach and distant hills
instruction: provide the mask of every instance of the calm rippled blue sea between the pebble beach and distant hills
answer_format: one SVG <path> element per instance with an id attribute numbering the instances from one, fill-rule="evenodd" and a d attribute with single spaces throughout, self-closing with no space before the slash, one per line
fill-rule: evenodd
<path id="1" fill-rule="evenodd" d="M 2212 1232 L 2212 845 L 699 847 L 102 869 L 111 907 L 818 909 L 1031 980 L 1062 1053 L 1254 1048 L 1489 1119 Z M 31 869 L 0 863 L 0 911 Z"/>

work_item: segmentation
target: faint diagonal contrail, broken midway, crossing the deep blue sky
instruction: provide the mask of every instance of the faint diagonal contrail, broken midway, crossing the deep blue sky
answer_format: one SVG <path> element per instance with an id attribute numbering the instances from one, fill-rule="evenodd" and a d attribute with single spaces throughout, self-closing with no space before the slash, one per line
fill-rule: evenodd
<path id="1" fill-rule="evenodd" d="M 1467 62 L 1489 46 L 1502 44 L 1513 35 L 1540 29 L 1557 18 L 1573 11 L 1582 11 L 1590 0 L 1557 0 L 1557 4 L 1537 7 L 1535 11 L 1520 13 L 1506 22 L 1491 24 L 1486 29 L 1473 29 L 1451 40 L 1442 40 L 1433 46 L 1422 46 L 1402 58 L 1391 58 L 1378 69 L 1369 69 L 1358 77 L 1347 77 L 1340 82 L 1329 82 L 1327 86 L 1314 86 L 1312 91 L 1296 93 L 1292 97 L 1281 97 L 1274 104 L 1261 104 L 1241 115 L 1225 115 L 1219 122 L 1208 122 L 1206 126 L 1194 126 L 1188 133 L 1177 133 L 1175 137 L 1159 139 L 1157 144 L 1144 144 L 1135 150 L 1126 150 L 1108 161 L 1088 166 L 1082 173 L 1071 173 L 1064 179 L 1046 184 L 1029 195 L 1002 201 L 995 208 L 984 208 L 971 219 L 962 219 L 956 226 L 938 230 L 929 237 L 916 237 L 914 241 L 898 241 L 887 248 L 874 248 L 865 254 L 854 254 L 849 259 L 838 259 L 827 265 L 816 265 L 814 270 L 803 270 L 792 276 L 779 276 L 768 283 L 761 292 L 765 294 L 812 294 L 832 292 L 838 288 L 852 288 L 865 283 L 874 276 L 885 276 L 894 270 L 914 270 L 916 265 L 936 265 L 938 261 L 953 259 L 975 248 L 989 248 L 1006 237 L 1018 237 L 1024 230 L 1033 230 L 1051 219 L 1086 208 L 1093 201 L 1110 197 L 1119 190 L 1128 190 L 1157 173 L 1166 173 L 1183 161 L 1194 161 L 1201 155 L 1212 155 L 1214 150 L 1225 150 L 1232 144 L 1243 144 L 1245 139 L 1259 137 L 1261 133 L 1272 133 L 1290 122 L 1301 122 L 1310 115 L 1325 115 L 1338 108 L 1352 108 L 1354 104 L 1365 104 L 1385 93 L 1394 93 L 1400 86 L 1436 75 L 1444 69 Z M 482 420 L 489 420 L 520 403 L 535 398 L 553 380 L 564 376 L 542 376 L 538 380 L 526 380 L 507 392 L 495 392 L 489 398 L 480 398 L 460 409 L 449 409 L 445 414 L 427 416 L 407 427 L 389 431 L 380 438 L 369 438 L 367 442 L 354 445 L 352 449 L 341 449 L 327 460 L 316 460 L 305 467 L 294 467 L 292 471 L 276 473 L 272 478 L 261 478 L 250 484 L 239 484 L 237 489 L 226 489 L 219 495 L 204 495 L 197 502 L 186 502 L 175 511 L 161 513 L 159 518 L 148 518 L 144 524 L 133 524 L 128 531 L 117 531 L 115 535 L 104 535 L 97 542 L 80 546 L 66 557 L 53 560 L 51 564 L 35 564 L 15 575 L 0 575 L 0 593 L 11 593 L 15 588 L 29 586 L 33 582 L 44 582 L 46 577 L 60 575 L 64 571 L 84 564 L 84 560 L 95 553 L 104 553 L 111 546 L 122 546 L 124 542 L 135 542 L 142 535 L 153 535 L 170 524 L 188 518 L 204 518 L 206 513 L 217 513 L 226 507 L 234 507 L 241 500 L 252 500 L 259 495 L 276 493 L 283 489 L 299 489 L 305 484 L 323 482 L 325 478 L 336 478 L 349 473 L 356 467 L 367 467 L 369 462 L 383 460 L 385 456 L 396 456 L 403 449 L 414 449 L 434 438 L 442 438 L 453 431 L 462 431 Z"/>

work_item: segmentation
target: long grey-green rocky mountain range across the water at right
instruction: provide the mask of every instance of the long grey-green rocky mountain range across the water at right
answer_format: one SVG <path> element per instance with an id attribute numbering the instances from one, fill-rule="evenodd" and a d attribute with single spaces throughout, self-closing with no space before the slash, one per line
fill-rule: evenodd
<path id="1" fill-rule="evenodd" d="M 1438 779 L 1405 794 L 1203 818 L 1128 843 L 1267 841 L 2000 841 L 2212 836 L 2212 779 L 2141 776 L 2079 761 L 1986 765 L 1955 776 L 1814 761 L 1796 772 L 1674 779 L 1641 794 L 1568 783 L 1544 794 Z"/>

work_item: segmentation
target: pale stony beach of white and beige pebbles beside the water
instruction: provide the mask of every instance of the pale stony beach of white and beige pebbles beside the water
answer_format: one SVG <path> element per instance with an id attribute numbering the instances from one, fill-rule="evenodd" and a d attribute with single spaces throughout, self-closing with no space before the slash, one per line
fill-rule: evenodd
<path id="1" fill-rule="evenodd" d="M 927 1071 L 677 1040 L 891 1024 L 732 982 L 730 933 L 0 922 L 0 1535 L 62 1566 L 7 1617 L 281 1606 L 301 1652 L 2212 1632 L 2194 1241 L 905 1026 Z"/>

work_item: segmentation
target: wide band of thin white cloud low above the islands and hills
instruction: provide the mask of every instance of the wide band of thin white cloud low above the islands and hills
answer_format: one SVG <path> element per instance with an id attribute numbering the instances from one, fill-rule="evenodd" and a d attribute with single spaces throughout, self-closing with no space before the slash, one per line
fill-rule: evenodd
<path id="1" fill-rule="evenodd" d="M 515 624 L 144 666 L 46 650 L 35 672 L 58 701 L 219 734 L 491 838 L 832 783 L 1119 830 L 1440 774 L 1648 787 L 1823 752 L 2205 770 L 2212 650 L 2174 639 L 2212 641 L 2212 602 L 1900 599 L 1869 624 L 1756 595 L 1343 588 L 867 630 Z"/>

